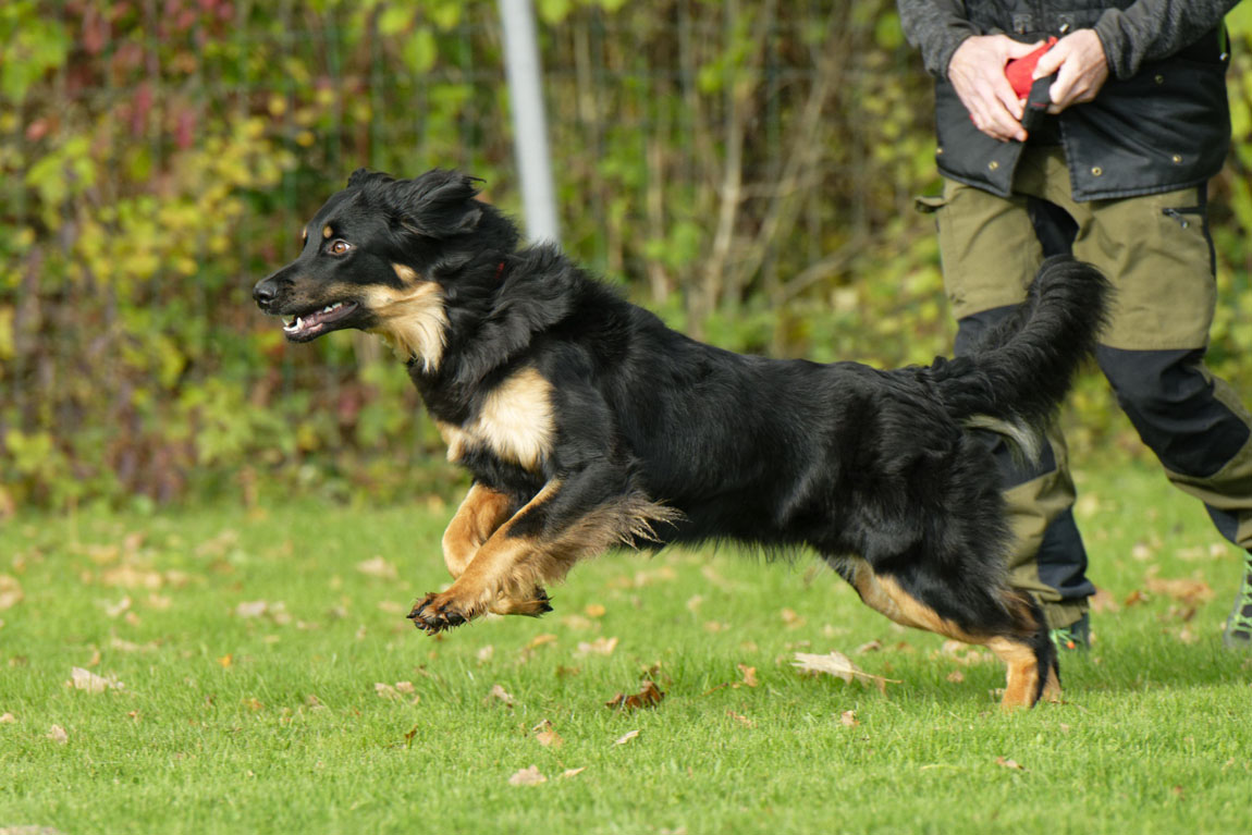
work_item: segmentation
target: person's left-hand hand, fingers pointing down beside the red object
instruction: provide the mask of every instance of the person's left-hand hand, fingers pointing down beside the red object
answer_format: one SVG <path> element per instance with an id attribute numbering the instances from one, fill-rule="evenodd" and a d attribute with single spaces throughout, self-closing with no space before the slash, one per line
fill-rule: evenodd
<path id="1" fill-rule="evenodd" d="M 973 116 L 974 126 L 988 136 L 1000 141 L 1025 141 L 1022 101 L 1004 78 L 1004 65 L 1014 58 L 1029 55 L 1038 46 L 1018 43 L 1007 35 L 975 35 L 953 53 L 948 80 Z"/>

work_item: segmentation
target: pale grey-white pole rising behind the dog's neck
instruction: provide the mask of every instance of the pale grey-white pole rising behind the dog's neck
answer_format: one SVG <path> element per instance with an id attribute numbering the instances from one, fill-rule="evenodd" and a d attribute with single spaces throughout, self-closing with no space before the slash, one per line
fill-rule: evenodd
<path id="1" fill-rule="evenodd" d="M 522 178 L 526 233 L 533 243 L 560 243 L 547 116 L 543 111 L 542 69 L 531 0 L 500 0 L 500 18 L 505 33 L 505 66 L 508 74 L 508 100 L 513 111 L 513 148 Z"/>

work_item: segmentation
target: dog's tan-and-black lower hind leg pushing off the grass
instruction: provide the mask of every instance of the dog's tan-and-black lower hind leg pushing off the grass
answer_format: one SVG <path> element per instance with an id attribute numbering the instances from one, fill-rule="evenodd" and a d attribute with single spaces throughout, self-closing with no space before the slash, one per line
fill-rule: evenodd
<path id="1" fill-rule="evenodd" d="M 871 608 L 896 623 L 936 632 L 989 648 L 1008 667 L 1004 710 L 1030 707 L 1039 699 L 1058 701 L 1057 651 L 1038 603 L 1009 588 L 957 586 L 936 575 L 876 572 L 864 560 L 844 562 L 840 575 Z M 930 605 L 926 600 L 934 601 Z M 964 610 L 959 625 L 952 613 Z M 980 613 L 975 613 L 980 612 Z"/>

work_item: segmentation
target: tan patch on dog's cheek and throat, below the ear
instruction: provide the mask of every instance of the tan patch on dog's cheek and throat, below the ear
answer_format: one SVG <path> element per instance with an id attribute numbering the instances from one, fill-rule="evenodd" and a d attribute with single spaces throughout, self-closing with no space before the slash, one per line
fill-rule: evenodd
<path id="1" fill-rule="evenodd" d="M 403 264 L 394 264 L 394 269 L 407 287 L 372 287 L 366 293 L 366 307 L 378 318 L 371 333 L 382 337 L 401 359 L 417 357 L 424 371 L 436 371 L 448 328 L 443 290 L 434 282 L 419 282 Z"/>

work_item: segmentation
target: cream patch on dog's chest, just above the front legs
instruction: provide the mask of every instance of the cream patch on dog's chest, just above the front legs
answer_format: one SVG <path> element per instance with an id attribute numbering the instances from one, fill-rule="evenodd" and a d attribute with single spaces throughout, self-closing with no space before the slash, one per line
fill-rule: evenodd
<path id="1" fill-rule="evenodd" d="M 467 423 L 436 424 L 448 444 L 448 461 L 461 461 L 472 447 L 486 447 L 503 461 L 537 469 L 555 437 L 552 384 L 525 368 L 497 386 Z"/>

